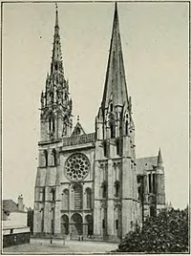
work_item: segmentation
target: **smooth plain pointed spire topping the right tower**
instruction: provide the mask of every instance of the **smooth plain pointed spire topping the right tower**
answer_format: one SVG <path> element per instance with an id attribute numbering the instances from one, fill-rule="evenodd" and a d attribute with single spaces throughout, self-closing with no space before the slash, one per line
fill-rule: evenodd
<path id="1" fill-rule="evenodd" d="M 123 106 L 124 103 L 128 104 L 125 70 L 119 32 L 117 3 L 115 4 L 112 39 L 110 44 L 110 53 L 101 104 L 102 108 L 108 107 L 108 102 L 111 97 L 113 99 L 114 105 Z"/>

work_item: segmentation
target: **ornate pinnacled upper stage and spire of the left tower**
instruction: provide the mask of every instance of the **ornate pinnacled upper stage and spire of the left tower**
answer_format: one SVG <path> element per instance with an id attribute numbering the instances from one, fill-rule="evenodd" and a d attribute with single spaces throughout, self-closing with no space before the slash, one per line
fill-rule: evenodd
<path id="1" fill-rule="evenodd" d="M 51 72 L 46 77 L 45 92 L 41 93 L 40 140 L 70 137 L 73 128 L 72 109 L 69 81 L 64 77 L 56 7 Z"/>

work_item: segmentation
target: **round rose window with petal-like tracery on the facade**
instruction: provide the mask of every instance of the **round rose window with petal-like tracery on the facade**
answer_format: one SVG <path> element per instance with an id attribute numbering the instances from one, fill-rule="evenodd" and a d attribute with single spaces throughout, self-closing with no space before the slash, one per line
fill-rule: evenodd
<path id="1" fill-rule="evenodd" d="M 65 175 L 71 181 L 81 181 L 87 177 L 89 168 L 88 158 L 81 153 L 76 153 L 66 160 Z"/>

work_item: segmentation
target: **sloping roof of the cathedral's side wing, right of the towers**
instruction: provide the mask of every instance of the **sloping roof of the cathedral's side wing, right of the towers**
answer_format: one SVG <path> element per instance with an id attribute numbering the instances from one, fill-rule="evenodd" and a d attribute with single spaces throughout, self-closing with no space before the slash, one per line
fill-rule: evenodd
<path id="1" fill-rule="evenodd" d="M 158 156 L 146 157 L 136 160 L 137 163 L 137 174 L 143 174 L 143 171 L 153 170 L 153 166 L 158 165 Z"/>

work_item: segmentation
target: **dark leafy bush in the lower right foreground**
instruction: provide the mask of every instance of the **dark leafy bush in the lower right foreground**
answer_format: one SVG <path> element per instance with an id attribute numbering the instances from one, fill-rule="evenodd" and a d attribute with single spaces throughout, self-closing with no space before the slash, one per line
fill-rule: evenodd
<path id="1" fill-rule="evenodd" d="M 140 231 L 129 232 L 118 252 L 188 252 L 188 208 L 161 210 Z"/>

